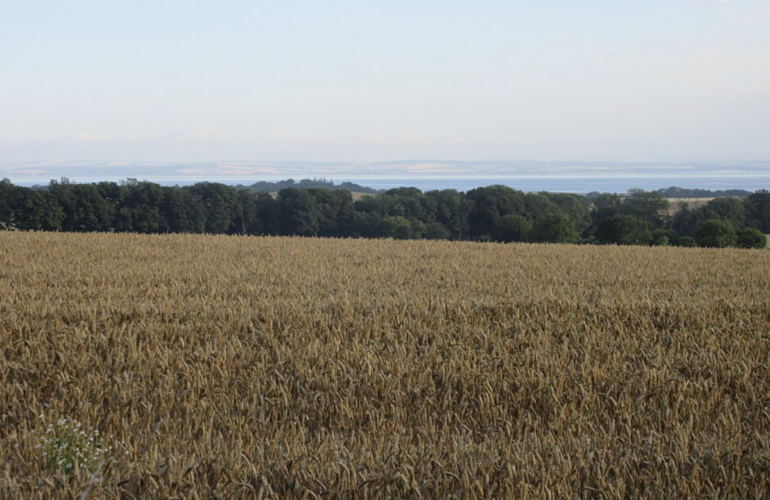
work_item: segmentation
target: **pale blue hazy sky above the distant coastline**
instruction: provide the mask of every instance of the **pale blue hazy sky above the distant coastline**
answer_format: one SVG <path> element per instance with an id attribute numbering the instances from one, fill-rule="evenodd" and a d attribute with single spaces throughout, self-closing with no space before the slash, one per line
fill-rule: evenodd
<path id="1" fill-rule="evenodd" d="M 0 161 L 770 159 L 770 0 L 0 0 Z"/>

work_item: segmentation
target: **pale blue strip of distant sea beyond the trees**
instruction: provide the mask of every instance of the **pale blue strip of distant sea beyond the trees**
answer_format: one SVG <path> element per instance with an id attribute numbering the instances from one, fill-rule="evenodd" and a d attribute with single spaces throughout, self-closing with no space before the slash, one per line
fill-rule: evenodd
<path id="1" fill-rule="evenodd" d="M 299 181 L 302 176 L 292 176 Z M 308 176 L 312 177 L 312 176 Z M 285 180 L 288 176 L 262 176 L 262 177 L 216 177 L 216 178 L 146 178 L 148 180 L 163 186 L 189 186 L 197 182 L 219 182 L 230 185 L 250 186 L 259 181 L 276 182 Z M 74 178 L 74 182 L 90 183 L 104 180 L 118 182 L 123 178 L 95 179 L 95 178 Z M 483 186 L 492 186 L 501 184 L 511 188 L 528 191 L 549 191 L 554 193 L 579 193 L 585 194 L 592 191 L 607 193 L 626 193 L 629 189 L 644 189 L 652 191 L 655 189 L 668 188 L 672 186 L 690 189 L 745 189 L 756 191 L 758 189 L 770 190 L 770 175 L 746 175 L 746 176 L 718 176 L 718 175 L 691 175 L 691 176 L 329 176 L 327 180 L 334 181 L 335 184 L 342 182 L 352 182 L 361 186 L 374 189 L 391 189 L 396 187 L 416 187 L 421 191 L 430 191 L 435 189 L 456 189 L 458 191 L 469 191 L 471 189 Z M 33 186 L 35 184 L 47 185 L 48 180 L 30 180 L 21 179 L 14 184 L 20 186 Z"/>

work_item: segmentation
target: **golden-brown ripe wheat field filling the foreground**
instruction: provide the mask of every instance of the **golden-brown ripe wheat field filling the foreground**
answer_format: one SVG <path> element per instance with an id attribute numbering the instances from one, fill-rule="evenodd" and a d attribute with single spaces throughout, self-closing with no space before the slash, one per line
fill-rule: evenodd
<path id="1" fill-rule="evenodd" d="M 0 498 L 767 498 L 770 252 L 0 233 L 0 444 Z"/>

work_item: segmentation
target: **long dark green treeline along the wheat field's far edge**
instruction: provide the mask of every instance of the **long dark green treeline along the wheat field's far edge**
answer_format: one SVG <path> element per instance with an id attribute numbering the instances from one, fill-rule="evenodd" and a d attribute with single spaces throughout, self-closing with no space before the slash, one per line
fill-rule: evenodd
<path id="1" fill-rule="evenodd" d="M 716 198 L 668 214 L 659 192 L 586 196 L 489 186 L 397 188 L 353 200 L 326 188 L 268 192 L 129 179 L 44 189 L 0 182 L 0 226 L 43 231 L 214 233 L 500 242 L 764 247 L 770 193 Z"/>

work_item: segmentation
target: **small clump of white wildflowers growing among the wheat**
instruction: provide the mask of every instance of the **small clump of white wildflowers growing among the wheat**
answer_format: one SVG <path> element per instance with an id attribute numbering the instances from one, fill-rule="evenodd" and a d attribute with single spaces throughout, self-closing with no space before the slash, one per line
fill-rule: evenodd
<path id="1" fill-rule="evenodd" d="M 77 420 L 60 418 L 50 423 L 37 445 L 56 470 L 71 474 L 75 468 L 86 469 L 91 474 L 104 462 L 110 447 L 99 444 L 99 431 L 88 433 Z"/>

